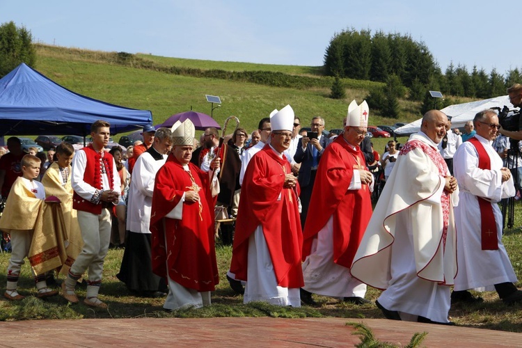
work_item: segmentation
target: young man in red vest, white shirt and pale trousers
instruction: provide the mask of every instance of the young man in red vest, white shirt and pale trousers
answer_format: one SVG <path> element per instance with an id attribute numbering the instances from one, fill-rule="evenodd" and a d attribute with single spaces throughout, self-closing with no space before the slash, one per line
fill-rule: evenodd
<path id="1" fill-rule="evenodd" d="M 104 151 L 109 143 L 109 122 L 97 120 L 90 127 L 93 142 L 80 149 L 72 159 L 72 207 L 78 212 L 84 248 L 72 264 L 62 283 L 62 296 L 77 303 L 74 292 L 77 280 L 88 269 L 87 306 L 106 308 L 98 299 L 102 285 L 103 262 L 111 239 L 111 213 L 109 208 L 118 204 L 120 177 L 111 154 Z"/>

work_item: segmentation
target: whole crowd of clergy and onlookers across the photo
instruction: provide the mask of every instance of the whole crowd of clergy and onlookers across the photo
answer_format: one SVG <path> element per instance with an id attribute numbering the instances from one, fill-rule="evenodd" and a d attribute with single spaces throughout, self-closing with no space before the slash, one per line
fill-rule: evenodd
<path id="1" fill-rule="evenodd" d="M 522 106 L 522 85 L 507 93 Z M 166 310 L 208 306 L 221 238 L 244 303 L 315 306 L 319 294 L 363 305 L 370 285 L 383 290 L 376 305 L 388 319 L 451 325 L 452 303 L 482 301 L 469 290 L 522 301 L 497 204 L 520 198 L 522 131 L 502 129 L 487 109 L 460 134 L 432 110 L 420 132 L 379 155 L 365 136 L 369 116 L 354 100 L 342 133 L 328 138 L 324 118 L 301 132 L 287 105 L 250 139 L 244 128 L 220 137 L 209 127 L 197 141 L 185 120 L 145 127 L 125 151 L 104 149 L 110 125 L 99 120 L 90 145 L 74 153 L 62 143 L 47 161 L 11 137 L 0 158 L 0 229 L 12 245 L 4 297 L 24 298 L 17 281 L 28 258 L 36 296 L 77 303 L 86 276 L 84 303 L 106 308 L 98 294 L 114 244 L 125 247 L 117 277 L 136 295 L 166 296 Z M 55 271 L 65 276 L 60 292 Z"/>

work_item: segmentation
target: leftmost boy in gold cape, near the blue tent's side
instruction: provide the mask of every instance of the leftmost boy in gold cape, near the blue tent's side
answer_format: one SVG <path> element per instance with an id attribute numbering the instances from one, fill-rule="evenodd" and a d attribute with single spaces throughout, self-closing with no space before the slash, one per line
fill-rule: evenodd
<path id="1" fill-rule="evenodd" d="M 18 278 L 24 258 L 29 258 L 31 251 L 43 250 L 45 242 L 42 238 L 42 200 L 45 199 L 45 191 L 35 178 L 40 173 L 40 159 L 33 155 L 25 155 L 22 158 L 22 177 L 18 177 L 11 187 L 6 208 L 0 219 L 0 229 L 10 233 L 13 253 L 7 267 L 7 287 L 3 296 L 11 301 L 19 301 L 24 296 L 17 292 Z M 40 228 L 38 226 L 40 225 Z M 37 229 L 35 230 L 35 227 Z M 33 238 L 33 237 L 36 238 Z M 33 242 L 34 241 L 34 242 Z M 44 254 L 45 252 L 42 252 Z M 44 258 L 45 259 L 45 258 Z M 36 262 L 31 260 L 31 266 Z M 39 263 L 39 262 L 38 262 Z M 31 267 L 38 289 L 38 298 L 42 299 L 58 294 L 51 290 L 45 283 L 45 271 L 49 269 L 35 269 Z"/>

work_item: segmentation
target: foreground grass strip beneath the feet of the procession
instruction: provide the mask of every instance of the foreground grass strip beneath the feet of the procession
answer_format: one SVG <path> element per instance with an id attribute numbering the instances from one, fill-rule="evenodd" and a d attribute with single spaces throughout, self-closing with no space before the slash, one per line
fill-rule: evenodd
<path id="1" fill-rule="evenodd" d="M 514 226 L 521 226 L 522 203 L 516 204 Z M 513 267 L 519 278 L 522 277 L 522 230 L 517 227 L 505 231 L 504 244 Z M 116 274 L 120 269 L 123 250 L 113 249 L 107 255 L 104 267 L 104 282 L 100 290 L 100 299 L 109 304 L 108 310 L 93 310 L 84 306 L 68 304 L 61 296 L 42 301 L 32 296 L 35 294 L 33 280 L 27 264 L 22 268 L 19 281 L 20 292 L 28 295 L 20 302 L 2 299 L 0 301 L 0 320 L 25 319 L 81 319 L 81 318 L 133 318 L 133 317 L 344 317 L 344 318 L 382 318 L 381 311 L 373 304 L 379 296 L 379 290 L 369 288 L 367 299 L 372 304 L 354 306 L 349 303 L 317 296 L 319 308 L 280 308 L 265 303 L 243 304 L 243 297 L 236 295 L 226 280 L 231 258 L 230 246 L 216 246 L 221 283 L 212 293 L 212 306 L 198 310 L 178 310 L 166 313 L 162 310 L 164 299 L 148 299 L 132 295 L 121 283 Z M 9 253 L 0 255 L 0 289 L 3 292 L 6 283 L 5 270 Z M 63 276 L 62 276 L 63 278 Z M 520 284 L 518 284 L 520 285 Z M 78 288 L 83 299 L 85 288 Z M 496 292 L 484 292 L 484 303 L 475 305 L 457 305 L 450 310 L 450 317 L 459 326 L 493 329 L 500 331 L 522 332 L 522 304 L 507 306 L 498 299 Z"/>

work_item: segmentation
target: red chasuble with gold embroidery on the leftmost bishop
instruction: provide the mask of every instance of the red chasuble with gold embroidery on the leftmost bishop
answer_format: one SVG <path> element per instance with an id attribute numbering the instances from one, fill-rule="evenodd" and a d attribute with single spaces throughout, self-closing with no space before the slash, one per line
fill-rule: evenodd
<path id="1" fill-rule="evenodd" d="M 152 271 L 166 278 L 168 264 L 168 276 L 176 283 L 198 292 L 212 291 L 219 276 L 209 175 L 191 163 L 188 166 L 190 172 L 184 171 L 171 154 L 156 175 L 150 214 Z M 185 191 L 197 189 L 200 204 L 183 203 L 181 220 L 165 217 Z"/>

